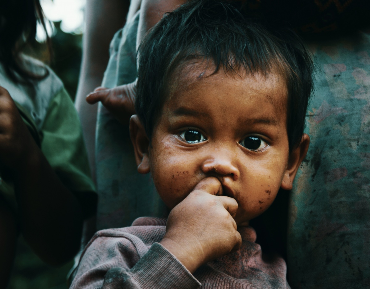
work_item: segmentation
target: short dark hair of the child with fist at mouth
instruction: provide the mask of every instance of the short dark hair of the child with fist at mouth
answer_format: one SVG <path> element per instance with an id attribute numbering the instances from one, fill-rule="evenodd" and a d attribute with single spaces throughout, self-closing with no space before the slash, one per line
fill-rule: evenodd
<path id="1" fill-rule="evenodd" d="M 215 72 L 277 70 L 287 82 L 289 149 L 300 143 L 313 85 L 310 54 L 293 31 L 248 19 L 225 0 L 189 1 L 167 13 L 141 44 L 135 109 L 149 140 L 171 73 L 194 57 L 213 61 Z"/>

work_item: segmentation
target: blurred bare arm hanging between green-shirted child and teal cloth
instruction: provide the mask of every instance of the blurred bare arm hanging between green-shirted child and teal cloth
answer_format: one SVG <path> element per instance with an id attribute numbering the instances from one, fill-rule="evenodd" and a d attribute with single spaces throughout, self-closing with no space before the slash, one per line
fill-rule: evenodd
<path id="1" fill-rule="evenodd" d="M 85 32 L 83 36 L 83 55 L 75 107 L 80 116 L 88 158 L 95 179 L 95 126 L 97 105 L 90 106 L 85 97 L 101 84 L 109 60 L 109 45 L 114 33 L 125 24 L 125 17 L 138 1 L 128 0 L 90 0 L 85 6 Z M 135 8 L 135 7 L 134 7 Z M 137 7 L 136 7 L 137 9 Z M 130 15 L 132 15 L 131 11 Z"/>

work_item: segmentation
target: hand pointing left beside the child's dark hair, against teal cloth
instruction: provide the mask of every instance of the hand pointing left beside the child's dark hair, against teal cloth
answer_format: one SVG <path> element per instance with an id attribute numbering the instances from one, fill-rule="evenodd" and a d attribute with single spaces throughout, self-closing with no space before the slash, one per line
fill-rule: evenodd
<path id="1" fill-rule="evenodd" d="M 135 114 L 136 82 L 107 89 L 97 87 L 88 94 L 86 101 L 90 104 L 101 102 L 121 124 L 129 124 Z"/>

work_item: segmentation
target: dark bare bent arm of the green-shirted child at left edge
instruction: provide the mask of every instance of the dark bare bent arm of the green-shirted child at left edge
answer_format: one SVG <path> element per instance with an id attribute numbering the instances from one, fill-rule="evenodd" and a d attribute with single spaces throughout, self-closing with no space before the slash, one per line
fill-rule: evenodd
<path id="1" fill-rule="evenodd" d="M 21 232 L 27 242 L 51 265 L 71 259 L 80 245 L 80 205 L 55 175 L 3 87 L 0 164 L 14 181 Z"/>

